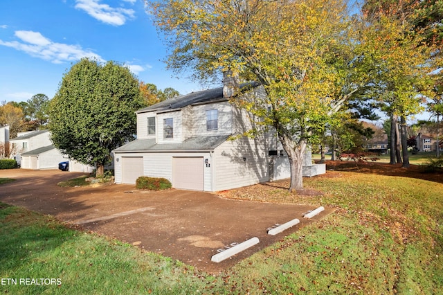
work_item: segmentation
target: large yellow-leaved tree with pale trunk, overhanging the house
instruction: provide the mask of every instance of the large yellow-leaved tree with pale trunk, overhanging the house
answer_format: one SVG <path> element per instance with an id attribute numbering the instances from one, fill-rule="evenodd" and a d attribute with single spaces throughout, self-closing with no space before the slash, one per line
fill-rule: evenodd
<path id="1" fill-rule="evenodd" d="M 347 64 L 347 11 L 341 0 L 147 1 L 166 37 L 168 66 L 211 80 L 232 71 L 259 82 L 266 98 L 233 99 L 272 127 L 289 157 L 289 190 L 302 189 L 302 157 L 353 89 L 341 92 Z M 339 94 L 338 94 L 339 93 Z M 260 129 L 260 128 L 257 128 Z M 257 129 L 247 134 L 257 134 Z"/>

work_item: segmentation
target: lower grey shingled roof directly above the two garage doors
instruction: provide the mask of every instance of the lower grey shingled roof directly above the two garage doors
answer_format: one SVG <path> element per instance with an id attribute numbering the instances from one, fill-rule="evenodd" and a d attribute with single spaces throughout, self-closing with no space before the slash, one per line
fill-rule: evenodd
<path id="1" fill-rule="evenodd" d="M 155 143 L 155 139 L 136 139 L 113 152 L 184 152 L 184 151 L 212 151 L 224 143 L 228 135 L 195 136 L 182 143 Z"/>

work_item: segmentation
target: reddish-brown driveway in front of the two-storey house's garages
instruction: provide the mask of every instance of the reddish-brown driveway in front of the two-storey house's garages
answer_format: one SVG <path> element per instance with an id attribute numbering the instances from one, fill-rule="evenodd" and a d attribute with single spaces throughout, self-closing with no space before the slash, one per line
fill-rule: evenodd
<path id="1" fill-rule="evenodd" d="M 329 213 L 327 209 L 307 220 L 302 215 L 312 206 L 242 202 L 189 190 L 144 192 L 131 185 L 57 186 L 80 175 L 59 170 L 0 170 L 0 178 L 17 179 L 0 187 L 0 201 L 53 215 L 211 273 L 233 266 Z M 300 224 L 278 235 L 267 234 L 275 224 L 294 218 Z M 218 249 L 253 237 L 260 243 L 223 262 L 211 262 Z"/>

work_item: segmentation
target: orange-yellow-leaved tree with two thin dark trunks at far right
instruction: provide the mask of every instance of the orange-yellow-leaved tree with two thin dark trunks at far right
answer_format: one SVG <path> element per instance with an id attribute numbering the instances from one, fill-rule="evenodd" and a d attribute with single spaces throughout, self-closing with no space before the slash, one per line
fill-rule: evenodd
<path id="1" fill-rule="evenodd" d="M 361 55 L 377 69 L 370 95 L 381 102 L 382 110 L 391 119 L 390 163 L 401 162 L 395 140 L 399 119 L 405 168 L 409 166 L 406 119 L 424 109 L 422 101 L 428 93 L 428 73 L 433 69 L 433 46 L 426 44 L 422 32 L 414 30 L 411 13 L 408 6 L 396 1 L 384 1 L 383 5 L 379 1 L 366 1 L 360 37 Z"/>

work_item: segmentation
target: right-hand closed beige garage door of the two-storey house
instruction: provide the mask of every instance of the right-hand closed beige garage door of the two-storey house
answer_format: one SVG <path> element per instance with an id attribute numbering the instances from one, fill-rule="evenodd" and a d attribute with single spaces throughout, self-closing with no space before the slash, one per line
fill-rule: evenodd
<path id="1" fill-rule="evenodd" d="M 204 190 L 203 157 L 174 157 L 173 186 L 184 190 Z"/>

